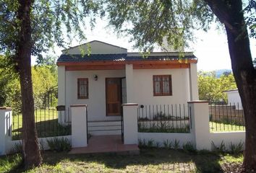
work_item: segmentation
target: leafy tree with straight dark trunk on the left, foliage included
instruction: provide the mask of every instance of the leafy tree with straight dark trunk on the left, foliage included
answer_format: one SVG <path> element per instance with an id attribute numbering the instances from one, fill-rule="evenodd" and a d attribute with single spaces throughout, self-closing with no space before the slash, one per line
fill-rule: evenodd
<path id="1" fill-rule="evenodd" d="M 84 39 L 81 28 L 85 28 L 85 21 L 93 24 L 92 14 L 98 12 L 100 5 L 93 0 L 0 0 L 0 53 L 20 76 L 25 168 L 42 162 L 35 130 L 31 56 L 40 62 L 42 53 L 54 44 L 64 46 L 63 33 Z"/>

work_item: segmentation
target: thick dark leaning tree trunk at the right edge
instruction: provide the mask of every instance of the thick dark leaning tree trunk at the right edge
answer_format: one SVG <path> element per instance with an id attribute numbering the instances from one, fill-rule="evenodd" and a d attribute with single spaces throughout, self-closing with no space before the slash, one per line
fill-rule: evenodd
<path id="1" fill-rule="evenodd" d="M 242 1 L 206 1 L 226 28 L 232 70 L 244 109 L 244 168 L 247 172 L 256 171 L 256 70 L 252 64 Z"/>

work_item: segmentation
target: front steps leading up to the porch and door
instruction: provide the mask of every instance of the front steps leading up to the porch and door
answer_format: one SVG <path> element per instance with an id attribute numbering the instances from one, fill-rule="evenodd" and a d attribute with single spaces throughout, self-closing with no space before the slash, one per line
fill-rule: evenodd
<path id="1" fill-rule="evenodd" d="M 88 121 L 88 133 L 91 136 L 121 135 L 121 121 Z"/>

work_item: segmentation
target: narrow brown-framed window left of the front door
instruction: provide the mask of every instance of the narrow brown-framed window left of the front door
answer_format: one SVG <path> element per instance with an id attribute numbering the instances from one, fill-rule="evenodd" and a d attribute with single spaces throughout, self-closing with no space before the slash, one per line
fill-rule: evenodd
<path id="1" fill-rule="evenodd" d="M 88 99 L 88 78 L 77 79 L 77 99 Z"/>

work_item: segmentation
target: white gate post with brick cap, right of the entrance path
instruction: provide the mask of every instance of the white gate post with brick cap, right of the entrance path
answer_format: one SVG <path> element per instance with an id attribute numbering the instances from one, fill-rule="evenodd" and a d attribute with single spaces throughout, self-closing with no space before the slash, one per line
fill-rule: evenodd
<path id="1" fill-rule="evenodd" d="M 124 144 L 138 143 L 137 107 L 137 103 L 123 105 Z"/>

